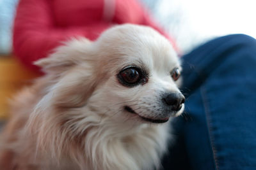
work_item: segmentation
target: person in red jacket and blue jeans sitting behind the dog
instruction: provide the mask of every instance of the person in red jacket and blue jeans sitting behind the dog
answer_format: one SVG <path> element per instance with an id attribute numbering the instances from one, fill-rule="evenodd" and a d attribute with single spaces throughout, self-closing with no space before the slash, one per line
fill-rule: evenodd
<path id="1" fill-rule="evenodd" d="M 136 0 L 20 0 L 13 51 L 38 71 L 33 62 L 62 41 L 76 36 L 94 40 L 124 23 L 153 27 L 175 46 Z M 163 169 L 256 169 L 256 40 L 223 36 L 181 59 L 186 109 L 173 119 L 175 142 Z"/>

